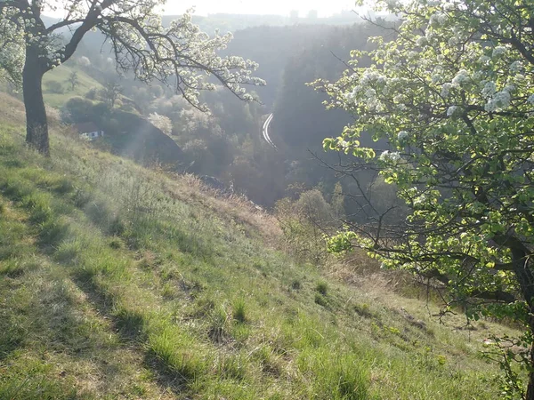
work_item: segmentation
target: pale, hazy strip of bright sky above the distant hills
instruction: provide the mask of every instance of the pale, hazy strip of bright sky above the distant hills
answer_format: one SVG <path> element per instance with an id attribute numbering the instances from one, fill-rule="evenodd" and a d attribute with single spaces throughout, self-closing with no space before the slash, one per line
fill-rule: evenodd
<path id="1" fill-rule="evenodd" d="M 167 0 L 166 14 L 178 14 L 195 5 L 196 13 L 228 12 L 239 14 L 281 14 L 299 10 L 305 16 L 310 10 L 317 10 L 326 17 L 342 10 L 354 9 L 354 0 Z"/>

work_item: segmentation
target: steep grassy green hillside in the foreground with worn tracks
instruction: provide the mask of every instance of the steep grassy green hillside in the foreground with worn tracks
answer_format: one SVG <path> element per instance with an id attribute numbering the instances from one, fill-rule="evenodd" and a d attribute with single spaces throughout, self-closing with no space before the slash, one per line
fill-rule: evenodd
<path id="1" fill-rule="evenodd" d="M 190 178 L 59 132 L 52 158 L 37 156 L 11 107 L 0 115 L 0 398 L 499 397 L 479 350 L 504 328 L 455 331 L 421 301 L 296 265 L 269 245 L 269 216 Z"/>

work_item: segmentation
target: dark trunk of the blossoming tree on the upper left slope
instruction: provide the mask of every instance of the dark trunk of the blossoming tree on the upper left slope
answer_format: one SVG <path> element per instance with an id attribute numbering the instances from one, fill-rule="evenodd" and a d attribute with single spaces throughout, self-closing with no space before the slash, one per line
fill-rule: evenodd
<path id="1" fill-rule="evenodd" d="M 48 122 L 43 100 L 43 59 L 33 46 L 26 49 L 26 62 L 22 72 L 22 91 L 26 108 L 26 142 L 32 148 L 50 156 Z"/>

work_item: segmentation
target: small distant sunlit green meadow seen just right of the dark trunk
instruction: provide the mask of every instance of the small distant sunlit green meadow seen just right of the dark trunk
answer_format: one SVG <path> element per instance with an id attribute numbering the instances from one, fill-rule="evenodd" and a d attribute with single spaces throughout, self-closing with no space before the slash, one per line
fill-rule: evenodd
<path id="1" fill-rule="evenodd" d="M 78 84 L 74 91 L 70 90 L 69 76 L 76 71 L 78 77 Z M 52 93 L 46 89 L 46 83 L 50 81 L 57 81 L 63 85 L 63 93 Z M 44 101 L 55 108 L 61 108 L 63 104 L 67 102 L 71 97 L 85 96 L 86 92 L 90 89 L 101 89 L 102 85 L 95 81 L 91 76 L 85 74 L 85 72 L 78 68 L 76 64 L 71 63 L 69 65 L 61 65 L 58 68 L 53 68 L 44 74 L 43 77 L 43 89 L 44 89 Z"/>

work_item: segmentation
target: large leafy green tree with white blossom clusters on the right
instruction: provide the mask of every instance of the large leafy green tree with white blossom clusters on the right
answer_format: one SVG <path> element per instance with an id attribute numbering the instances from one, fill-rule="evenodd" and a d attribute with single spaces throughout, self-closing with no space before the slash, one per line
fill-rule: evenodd
<path id="1" fill-rule="evenodd" d="M 330 249 L 360 247 L 386 268 L 441 282 L 444 312 L 460 305 L 469 318 L 521 324 L 520 338 L 494 348 L 503 350 L 503 388 L 534 399 L 534 3 L 381 6 L 404 19 L 391 29 L 395 38 L 352 52 L 336 83 L 316 83 L 330 107 L 355 116 L 324 146 L 355 156 L 340 171 L 374 168 L 396 184 L 409 216 L 388 226 L 394 209 L 377 212 L 362 188 L 356 198 L 368 224 L 333 237 Z M 388 145 L 360 146 L 363 132 Z M 514 361 L 528 372 L 526 387 Z"/>

